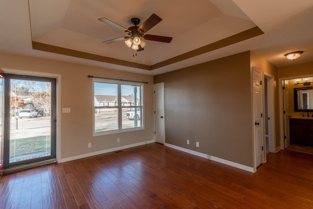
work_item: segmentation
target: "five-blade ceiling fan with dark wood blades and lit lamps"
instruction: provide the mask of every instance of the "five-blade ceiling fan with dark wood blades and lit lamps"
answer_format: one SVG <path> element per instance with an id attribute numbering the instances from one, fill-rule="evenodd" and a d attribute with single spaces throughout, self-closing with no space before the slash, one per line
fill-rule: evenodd
<path id="1" fill-rule="evenodd" d="M 106 18 L 100 18 L 99 21 L 103 23 L 107 23 L 112 25 L 113 27 L 116 27 L 120 30 L 125 31 L 128 36 L 123 36 L 120 38 L 104 41 L 104 44 L 111 44 L 114 42 L 118 41 L 124 41 L 125 44 L 128 47 L 133 48 L 134 50 L 137 51 L 142 51 L 144 50 L 144 46 L 146 43 L 142 40 L 149 40 L 149 41 L 157 41 L 157 42 L 164 42 L 164 43 L 170 43 L 172 41 L 172 37 L 167 37 L 167 36 L 157 36 L 157 35 L 150 35 L 150 34 L 145 34 L 150 30 L 152 27 L 154 27 L 157 23 L 161 22 L 162 19 L 157 16 L 156 14 L 152 14 L 144 23 L 142 23 L 140 26 L 137 26 L 140 23 L 139 18 L 132 18 L 131 22 L 134 24 L 134 26 L 131 26 L 129 28 L 125 28 L 117 23 L 114 23 Z"/>

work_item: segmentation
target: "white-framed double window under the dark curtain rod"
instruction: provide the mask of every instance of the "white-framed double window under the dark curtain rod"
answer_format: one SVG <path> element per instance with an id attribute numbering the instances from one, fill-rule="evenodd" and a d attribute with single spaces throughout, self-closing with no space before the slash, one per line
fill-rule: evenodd
<path id="1" fill-rule="evenodd" d="M 93 135 L 143 129 L 143 85 L 93 78 Z"/>

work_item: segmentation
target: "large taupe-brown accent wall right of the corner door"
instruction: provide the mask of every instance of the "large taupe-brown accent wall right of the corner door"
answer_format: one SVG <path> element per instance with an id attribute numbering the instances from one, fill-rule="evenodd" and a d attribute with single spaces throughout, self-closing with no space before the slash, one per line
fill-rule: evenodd
<path id="1" fill-rule="evenodd" d="M 250 80 L 249 51 L 154 76 L 164 82 L 165 142 L 253 167 Z"/>

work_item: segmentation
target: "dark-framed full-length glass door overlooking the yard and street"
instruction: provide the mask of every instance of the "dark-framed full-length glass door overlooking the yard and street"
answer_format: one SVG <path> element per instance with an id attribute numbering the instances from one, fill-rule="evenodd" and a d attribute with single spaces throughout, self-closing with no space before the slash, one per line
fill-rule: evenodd
<path id="1" fill-rule="evenodd" d="M 6 74 L 4 169 L 56 160 L 56 78 Z"/>

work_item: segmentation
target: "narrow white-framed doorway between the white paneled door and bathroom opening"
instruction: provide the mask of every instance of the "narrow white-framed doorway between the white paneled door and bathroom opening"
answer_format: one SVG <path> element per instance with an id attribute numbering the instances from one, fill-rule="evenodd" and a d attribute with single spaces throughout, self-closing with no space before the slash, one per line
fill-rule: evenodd
<path id="1" fill-rule="evenodd" d="M 268 86 L 268 151 L 276 152 L 276 132 L 275 132 L 275 88 L 274 88 L 274 79 L 275 77 L 267 72 L 264 72 L 264 77 L 267 78 Z M 265 79 L 263 79 L 265 80 Z M 264 86 L 263 86 L 264 89 Z M 265 101 L 265 100 L 264 100 Z M 265 118 L 266 119 L 266 118 Z M 266 161 L 266 158 L 264 159 Z"/>

